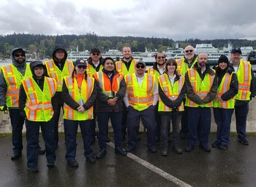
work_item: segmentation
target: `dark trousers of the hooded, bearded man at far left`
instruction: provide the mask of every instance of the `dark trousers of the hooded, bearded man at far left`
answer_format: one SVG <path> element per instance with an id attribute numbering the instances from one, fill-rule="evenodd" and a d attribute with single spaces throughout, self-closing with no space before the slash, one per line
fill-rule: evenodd
<path id="1" fill-rule="evenodd" d="M 23 118 L 23 116 L 20 116 L 19 109 L 9 108 L 9 114 L 10 114 L 10 119 L 12 124 L 12 145 L 13 145 L 12 151 L 15 154 L 19 154 L 23 149 L 22 129 L 23 129 L 25 118 Z"/>

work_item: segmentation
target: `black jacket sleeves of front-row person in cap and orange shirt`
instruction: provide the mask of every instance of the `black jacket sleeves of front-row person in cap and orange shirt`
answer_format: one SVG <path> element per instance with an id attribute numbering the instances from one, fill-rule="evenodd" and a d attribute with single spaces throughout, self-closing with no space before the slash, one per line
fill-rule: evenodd
<path id="1" fill-rule="evenodd" d="M 64 102 L 71 107 L 73 110 L 77 111 L 79 107 L 79 103 L 76 103 L 75 100 L 71 98 L 71 95 L 69 95 L 69 90 L 67 89 L 67 85 L 65 81 L 63 80 L 62 84 L 62 97 L 64 99 Z M 83 108 L 87 111 L 91 106 L 94 106 L 95 100 L 97 97 L 97 87 L 94 81 L 94 89 L 91 93 L 91 96 L 89 100 L 86 101 L 86 103 L 83 104 Z"/>

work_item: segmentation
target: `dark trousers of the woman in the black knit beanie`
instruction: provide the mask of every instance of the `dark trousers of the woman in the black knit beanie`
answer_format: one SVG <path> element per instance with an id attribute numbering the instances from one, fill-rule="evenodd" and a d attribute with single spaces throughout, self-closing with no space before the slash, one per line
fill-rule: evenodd
<path id="1" fill-rule="evenodd" d="M 217 124 L 217 141 L 221 146 L 230 143 L 230 124 L 234 109 L 214 108 L 214 120 Z"/>

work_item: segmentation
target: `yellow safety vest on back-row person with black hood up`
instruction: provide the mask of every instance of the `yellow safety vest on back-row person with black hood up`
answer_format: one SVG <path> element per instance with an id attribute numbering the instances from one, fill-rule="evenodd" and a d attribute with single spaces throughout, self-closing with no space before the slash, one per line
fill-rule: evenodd
<path id="1" fill-rule="evenodd" d="M 53 59 L 51 59 L 50 61 L 46 61 L 45 65 L 48 72 L 48 76 L 56 80 L 57 92 L 61 92 L 62 81 L 64 76 L 72 75 L 72 72 L 74 70 L 74 65 L 72 61 L 66 60 L 62 71 L 58 68 L 57 65 L 55 65 L 55 63 L 53 62 Z"/>

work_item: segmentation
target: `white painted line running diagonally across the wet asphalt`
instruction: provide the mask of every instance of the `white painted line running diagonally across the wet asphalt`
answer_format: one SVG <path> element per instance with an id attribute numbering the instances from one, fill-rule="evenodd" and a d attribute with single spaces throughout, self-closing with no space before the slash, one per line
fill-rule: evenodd
<path id="1" fill-rule="evenodd" d="M 115 145 L 112 142 L 107 143 L 108 146 L 115 148 Z M 133 159 L 135 162 L 138 162 L 139 164 L 142 164 L 144 167 L 148 168 L 149 170 L 157 173 L 158 175 L 162 176 L 163 178 L 166 178 L 167 180 L 170 180 L 171 182 L 175 183 L 178 186 L 181 187 L 192 187 L 187 183 L 184 183 L 182 180 L 179 180 L 178 178 L 173 177 L 173 175 L 170 175 L 169 173 L 165 172 L 164 170 L 159 169 L 158 167 L 155 167 L 153 164 L 150 164 L 149 162 L 146 162 L 143 159 L 140 159 L 140 157 L 135 156 L 134 154 L 128 153 L 127 156 L 130 159 Z"/>

